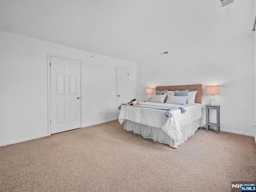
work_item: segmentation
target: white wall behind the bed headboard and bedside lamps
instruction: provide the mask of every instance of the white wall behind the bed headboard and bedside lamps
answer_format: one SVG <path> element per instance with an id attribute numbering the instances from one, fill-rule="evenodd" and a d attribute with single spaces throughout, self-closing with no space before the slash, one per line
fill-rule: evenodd
<path id="1" fill-rule="evenodd" d="M 220 104 L 220 128 L 242 134 L 255 125 L 253 35 L 228 40 L 186 52 L 160 55 L 158 60 L 137 62 L 137 98 L 145 100 L 145 88 L 164 85 L 202 84 L 202 119 L 204 105 L 210 102 L 205 86 L 219 85 L 215 95 Z M 212 122 L 216 112 L 211 111 Z M 254 136 L 253 128 L 246 134 Z"/>

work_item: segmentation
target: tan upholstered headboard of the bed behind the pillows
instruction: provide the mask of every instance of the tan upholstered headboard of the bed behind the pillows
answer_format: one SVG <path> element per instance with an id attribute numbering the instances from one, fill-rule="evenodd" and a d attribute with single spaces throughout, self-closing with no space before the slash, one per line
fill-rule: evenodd
<path id="1" fill-rule="evenodd" d="M 188 91 L 196 91 L 196 99 L 195 103 L 202 103 L 202 84 L 196 84 L 196 85 L 172 85 L 172 86 L 156 86 L 156 90 L 163 91 L 183 91 L 188 89 Z"/>

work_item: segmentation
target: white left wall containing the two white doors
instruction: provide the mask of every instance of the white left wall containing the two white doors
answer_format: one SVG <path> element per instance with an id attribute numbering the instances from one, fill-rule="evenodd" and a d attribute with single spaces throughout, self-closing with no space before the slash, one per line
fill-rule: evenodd
<path id="1" fill-rule="evenodd" d="M 47 53 L 82 59 L 83 127 L 116 119 L 116 66 L 136 98 L 135 63 L 1 31 L 0 145 L 48 135 Z"/>

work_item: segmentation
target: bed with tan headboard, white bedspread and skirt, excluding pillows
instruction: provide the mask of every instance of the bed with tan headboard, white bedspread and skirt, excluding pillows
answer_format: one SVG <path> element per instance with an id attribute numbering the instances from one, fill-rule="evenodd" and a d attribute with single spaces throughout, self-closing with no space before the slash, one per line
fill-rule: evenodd
<path id="1" fill-rule="evenodd" d="M 156 86 L 156 90 L 163 91 L 197 91 L 194 103 L 186 105 L 140 102 L 140 104 L 150 104 L 156 106 L 175 107 L 171 110 L 171 117 L 166 116 L 166 110 L 153 108 L 142 108 L 121 105 L 118 121 L 124 123 L 124 129 L 140 134 L 144 138 L 150 138 L 156 142 L 168 144 L 172 148 L 177 148 L 190 136 L 194 135 L 200 126 L 202 117 L 202 84 L 179 85 L 179 86 Z M 186 112 L 182 113 L 182 108 Z"/>

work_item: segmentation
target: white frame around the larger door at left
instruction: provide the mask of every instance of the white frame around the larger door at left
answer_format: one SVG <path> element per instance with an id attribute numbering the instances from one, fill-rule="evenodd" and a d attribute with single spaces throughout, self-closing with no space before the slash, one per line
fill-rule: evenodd
<path id="1" fill-rule="evenodd" d="M 47 102 L 48 102 L 48 136 L 51 135 L 51 71 L 50 71 L 50 57 L 59 57 L 59 58 L 64 58 L 64 59 L 70 59 L 70 60 L 75 60 L 80 62 L 80 126 L 82 128 L 82 60 L 77 59 L 77 58 L 72 58 L 72 57 L 67 57 L 67 56 L 62 56 L 62 55 L 57 55 L 57 54 L 52 54 L 52 53 L 47 53 Z"/>

